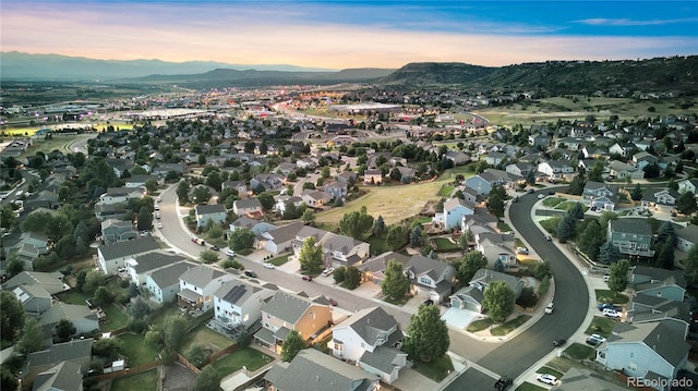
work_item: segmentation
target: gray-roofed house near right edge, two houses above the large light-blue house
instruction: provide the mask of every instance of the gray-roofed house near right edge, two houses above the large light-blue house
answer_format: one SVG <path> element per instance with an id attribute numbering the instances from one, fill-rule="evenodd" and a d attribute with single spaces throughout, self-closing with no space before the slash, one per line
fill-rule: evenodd
<path id="1" fill-rule="evenodd" d="M 683 302 L 686 297 L 686 279 L 681 270 L 666 270 L 636 266 L 629 284 L 636 295 L 649 295 Z"/>

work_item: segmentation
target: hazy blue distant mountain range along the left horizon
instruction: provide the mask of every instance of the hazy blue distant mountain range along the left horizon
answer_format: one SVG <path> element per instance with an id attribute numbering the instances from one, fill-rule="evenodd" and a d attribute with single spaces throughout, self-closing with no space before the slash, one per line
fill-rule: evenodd
<path id="1" fill-rule="evenodd" d="M 274 70 L 303 72 L 337 72 L 334 70 L 294 65 L 227 64 L 210 61 L 166 62 L 160 60 L 96 60 L 59 54 L 28 54 L 17 51 L 0 53 L 0 75 L 3 80 L 25 81 L 113 81 L 153 74 L 201 74 L 216 69 Z"/>

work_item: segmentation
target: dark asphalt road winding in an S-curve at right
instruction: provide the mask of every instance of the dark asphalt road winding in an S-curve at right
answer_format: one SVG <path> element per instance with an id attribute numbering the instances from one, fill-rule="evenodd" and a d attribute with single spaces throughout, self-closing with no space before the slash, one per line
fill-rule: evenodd
<path id="1" fill-rule="evenodd" d="M 547 190 L 546 190 L 547 191 Z M 545 241 L 531 219 L 531 209 L 538 200 L 538 193 L 519 197 L 512 204 L 509 218 L 512 224 L 541 259 L 550 260 L 555 280 L 555 311 L 500 345 L 477 363 L 501 376 L 516 378 L 554 350 L 553 340 L 569 339 L 583 322 L 589 308 L 589 293 L 583 277 L 577 267 L 568 260 L 555 244 Z M 446 390 L 492 389 L 494 380 L 483 377 L 474 370 L 467 370 Z"/>

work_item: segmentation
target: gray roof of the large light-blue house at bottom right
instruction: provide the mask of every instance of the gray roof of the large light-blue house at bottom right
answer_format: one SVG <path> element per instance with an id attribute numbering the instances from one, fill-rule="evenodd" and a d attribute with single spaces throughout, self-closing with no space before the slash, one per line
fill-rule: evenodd
<path id="1" fill-rule="evenodd" d="M 667 321 L 670 320 L 633 325 L 618 322 L 609 335 L 607 343 L 642 342 L 671 365 L 676 366 L 688 354 L 690 345 L 681 332 L 666 323 Z"/>

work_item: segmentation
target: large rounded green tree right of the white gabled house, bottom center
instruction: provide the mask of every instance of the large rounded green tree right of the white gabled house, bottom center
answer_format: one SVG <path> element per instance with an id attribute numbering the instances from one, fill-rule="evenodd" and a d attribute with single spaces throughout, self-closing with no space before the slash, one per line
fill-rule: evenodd
<path id="1" fill-rule="evenodd" d="M 424 363 L 441 358 L 448 351 L 450 338 L 438 306 L 424 305 L 410 317 L 405 338 L 405 352 Z"/>

